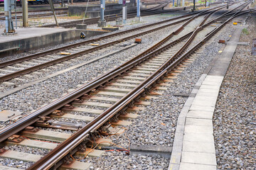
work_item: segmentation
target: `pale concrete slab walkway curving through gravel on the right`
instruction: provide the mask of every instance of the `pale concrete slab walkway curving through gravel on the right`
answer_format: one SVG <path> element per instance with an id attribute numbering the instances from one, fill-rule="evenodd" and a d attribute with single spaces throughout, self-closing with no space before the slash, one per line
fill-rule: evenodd
<path id="1" fill-rule="evenodd" d="M 194 101 L 186 101 L 186 107 L 189 107 L 187 113 L 181 113 L 179 118 L 186 117 L 184 125 L 177 124 L 178 126 L 185 126 L 182 149 L 180 144 L 174 142 L 174 155 L 171 155 L 170 167 L 176 169 L 216 169 L 215 146 L 213 137 L 213 113 L 215 110 L 215 102 L 218 98 L 219 89 L 222 84 L 223 78 L 228 70 L 230 61 L 233 58 L 235 49 L 240 40 L 241 28 L 235 29 L 232 38 L 228 45 L 223 48 L 223 52 L 219 53 L 217 57 L 209 64 L 205 70 L 205 74 L 194 86 L 198 89 L 193 94 Z M 191 97 L 193 97 L 191 96 Z M 203 104 L 204 103 L 204 104 Z M 175 134 L 174 141 L 176 141 Z M 178 135 L 178 139 L 180 139 Z M 177 155 L 181 155 L 181 161 L 175 162 Z M 177 159 L 178 161 L 178 159 Z"/>

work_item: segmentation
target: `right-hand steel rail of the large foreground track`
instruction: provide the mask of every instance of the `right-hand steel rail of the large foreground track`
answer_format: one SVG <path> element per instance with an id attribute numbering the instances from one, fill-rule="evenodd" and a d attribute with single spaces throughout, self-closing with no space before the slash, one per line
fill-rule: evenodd
<path id="1" fill-rule="evenodd" d="M 204 21 L 203 21 L 204 22 Z M 201 23 L 202 24 L 202 23 Z M 191 38 L 193 39 L 194 35 L 198 33 L 200 25 L 191 35 Z M 217 30 L 215 31 L 215 33 Z M 187 41 L 188 42 L 188 41 Z M 199 43 L 200 44 L 200 43 Z M 191 52 L 191 50 L 189 51 Z M 186 52 L 187 54 L 188 52 Z M 176 54 L 178 56 L 180 52 Z M 172 66 L 176 66 L 181 62 L 179 59 L 184 59 L 186 55 L 182 55 L 178 58 L 178 60 L 172 62 Z M 174 56 L 169 59 L 169 62 L 174 59 Z M 167 71 L 167 68 L 170 68 L 169 62 L 165 62 L 159 69 L 154 72 L 149 78 L 147 78 L 145 81 L 142 82 L 142 84 L 139 84 L 135 89 L 133 89 L 129 94 L 124 96 L 120 101 L 117 101 L 117 103 L 114 103 L 114 105 L 107 109 L 104 113 L 99 115 L 97 118 L 92 120 L 91 123 L 88 123 L 84 128 L 79 130 L 77 133 L 75 133 L 72 137 L 70 137 L 68 140 L 65 140 L 62 144 L 60 144 L 58 147 L 53 149 L 50 153 L 48 153 L 45 157 L 40 159 L 36 164 L 33 164 L 28 169 L 50 169 L 52 166 L 57 164 L 65 155 L 70 153 L 70 150 L 75 149 L 80 145 L 83 140 L 85 140 L 85 137 L 87 137 L 90 132 L 93 132 L 94 130 L 97 130 L 97 128 L 100 128 L 104 123 L 106 123 L 112 116 L 116 115 L 119 111 L 122 111 L 129 103 L 134 101 L 139 95 L 142 93 L 146 93 L 146 91 L 149 89 L 149 86 L 154 85 L 156 81 L 159 81 L 159 79 L 164 76 Z M 175 65 L 174 65 L 175 63 Z M 172 67 L 172 68 L 173 68 Z M 164 69 L 166 68 L 166 69 Z M 164 69 L 164 70 L 163 70 Z M 56 168 L 56 167 L 55 167 Z"/>

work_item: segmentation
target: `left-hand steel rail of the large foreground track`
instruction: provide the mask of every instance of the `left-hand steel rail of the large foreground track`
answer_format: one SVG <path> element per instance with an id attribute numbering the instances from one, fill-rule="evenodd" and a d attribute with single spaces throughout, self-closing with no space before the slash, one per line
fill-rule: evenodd
<path id="1" fill-rule="evenodd" d="M 171 33 L 166 38 L 164 38 L 164 40 L 161 40 L 161 42 L 159 42 L 156 45 L 154 45 L 153 47 L 151 47 L 151 50 L 154 50 L 157 46 L 162 45 L 164 42 L 166 42 L 166 40 L 169 40 L 169 38 L 171 38 L 174 35 L 174 32 Z M 174 45 L 176 42 L 183 40 L 184 38 L 186 38 L 189 35 L 191 35 L 191 33 L 184 35 L 182 38 L 178 38 L 176 41 L 171 42 L 169 45 Z M 74 94 L 73 92 L 71 92 L 70 94 L 68 94 L 68 96 L 72 95 L 72 97 L 70 97 L 70 100 L 66 101 L 65 104 L 70 103 L 71 101 L 75 100 L 75 98 L 79 98 L 80 96 L 82 96 L 82 94 L 86 94 L 87 92 L 92 91 L 92 89 L 95 89 L 97 86 L 100 86 L 101 84 L 112 79 L 113 76 L 117 77 L 120 70 L 126 70 L 127 67 L 130 67 L 131 64 L 134 64 L 134 63 L 139 64 L 140 62 L 143 62 L 144 60 L 146 60 L 146 57 L 149 57 L 151 55 L 156 55 L 157 52 L 161 52 L 162 50 L 164 50 L 164 48 L 161 47 L 161 49 L 159 51 L 154 51 L 154 52 L 151 52 L 151 50 L 146 50 L 146 52 L 142 52 L 142 54 L 140 54 L 138 57 L 135 57 L 134 60 L 131 60 L 130 62 L 125 62 L 124 64 L 122 64 L 119 67 L 120 69 L 116 68 L 116 69 L 113 69 L 111 72 L 108 72 L 107 74 L 105 74 L 106 77 L 103 77 L 103 76 L 99 77 L 99 78 L 95 79 L 94 81 L 90 81 L 90 83 L 88 83 L 87 86 L 81 86 L 81 88 L 80 88 L 81 91 L 79 91 L 77 94 Z M 142 57 L 143 55 L 145 55 L 148 52 L 151 52 L 151 53 L 149 55 L 146 55 L 145 57 Z M 66 98 L 66 97 L 67 96 L 64 96 L 63 98 Z M 18 122 L 14 123 L 12 125 L 9 125 L 8 128 L 6 127 L 3 130 L 1 130 L 0 131 L 0 142 L 3 142 L 4 140 L 6 140 L 8 137 L 11 136 L 11 134 L 14 135 L 16 132 L 26 128 L 26 126 L 35 123 L 38 120 L 39 115 L 41 115 L 41 116 L 48 115 L 49 113 L 55 111 L 56 109 L 61 108 L 63 106 L 63 101 L 62 101 L 63 98 L 60 100 L 54 101 L 53 103 L 50 103 L 48 106 L 46 106 L 47 108 L 50 108 L 50 110 L 46 111 L 45 109 L 47 109 L 47 108 L 43 107 L 43 108 L 39 109 L 38 111 L 31 113 L 30 115 L 26 116 L 25 118 L 19 120 Z M 43 112 L 43 114 L 42 114 L 42 112 Z"/>

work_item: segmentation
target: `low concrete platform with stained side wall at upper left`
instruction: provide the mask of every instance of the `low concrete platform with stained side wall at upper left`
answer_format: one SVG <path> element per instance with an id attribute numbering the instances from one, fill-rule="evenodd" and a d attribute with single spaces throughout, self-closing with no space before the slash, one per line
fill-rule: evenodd
<path id="1" fill-rule="evenodd" d="M 4 29 L 0 29 L 4 33 Z M 83 30 L 86 37 L 108 33 L 98 30 Z M 58 45 L 70 40 L 78 40 L 81 30 L 69 28 L 18 28 L 16 35 L 0 35 L 1 55 L 11 55 L 14 52 L 23 52 L 24 50 L 34 50 L 49 45 Z"/>

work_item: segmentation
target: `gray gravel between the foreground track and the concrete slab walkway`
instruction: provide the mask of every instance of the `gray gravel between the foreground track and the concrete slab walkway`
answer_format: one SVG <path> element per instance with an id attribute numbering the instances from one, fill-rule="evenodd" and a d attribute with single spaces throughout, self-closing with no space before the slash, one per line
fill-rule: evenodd
<path id="1" fill-rule="evenodd" d="M 202 54 L 197 55 L 198 58 L 195 62 L 189 65 L 181 74 L 178 74 L 177 79 L 170 84 L 168 90 L 165 91 L 162 96 L 159 96 L 159 98 L 156 99 L 151 99 L 151 105 L 146 106 L 144 111 L 139 111 L 139 118 L 129 119 L 129 121 L 132 121 L 133 123 L 131 126 L 127 127 L 125 133 L 122 135 L 113 135 L 110 139 L 115 144 L 126 149 L 129 149 L 131 144 L 172 146 L 176 130 L 176 120 L 183 107 L 183 103 L 186 101 L 186 98 L 174 96 L 174 94 L 191 93 L 194 84 L 196 84 L 201 77 L 201 74 L 203 74 L 203 71 L 208 67 L 208 63 L 213 60 L 213 57 L 215 57 L 220 47 L 222 47 L 222 45 L 218 44 L 218 40 L 220 38 L 228 39 L 228 35 L 233 31 L 232 28 L 229 29 L 228 27 L 229 26 L 223 28 L 221 33 L 217 33 L 215 38 L 210 39 L 211 42 L 207 43 L 207 47 L 201 49 L 203 50 Z M 114 165 L 119 165 L 120 163 L 115 157 L 117 157 L 116 152 L 107 152 L 107 159 L 87 157 L 86 160 L 87 162 L 92 162 L 95 169 L 101 169 L 102 164 L 111 164 L 112 167 Z M 122 159 L 124 169 L 133 169 L 130 166 L 127 168 L 132 156 L 128 157 L 124 155 L 124 157 L 127 157 L 127 159 Z M 151 156 L 145 157 L 146 159 L 153 158 Z M 162 159 L 161 163 L 163 163 L 163 165 L 161 168 L 167 169 L 169 166 L 169 159 Z M 168 164 L 164 164 L 166 161 Z M 138 168 L 136 167 L 135 169 Z M 147 167 L 142 167 L 142 169 L 147 169 Z"/>

